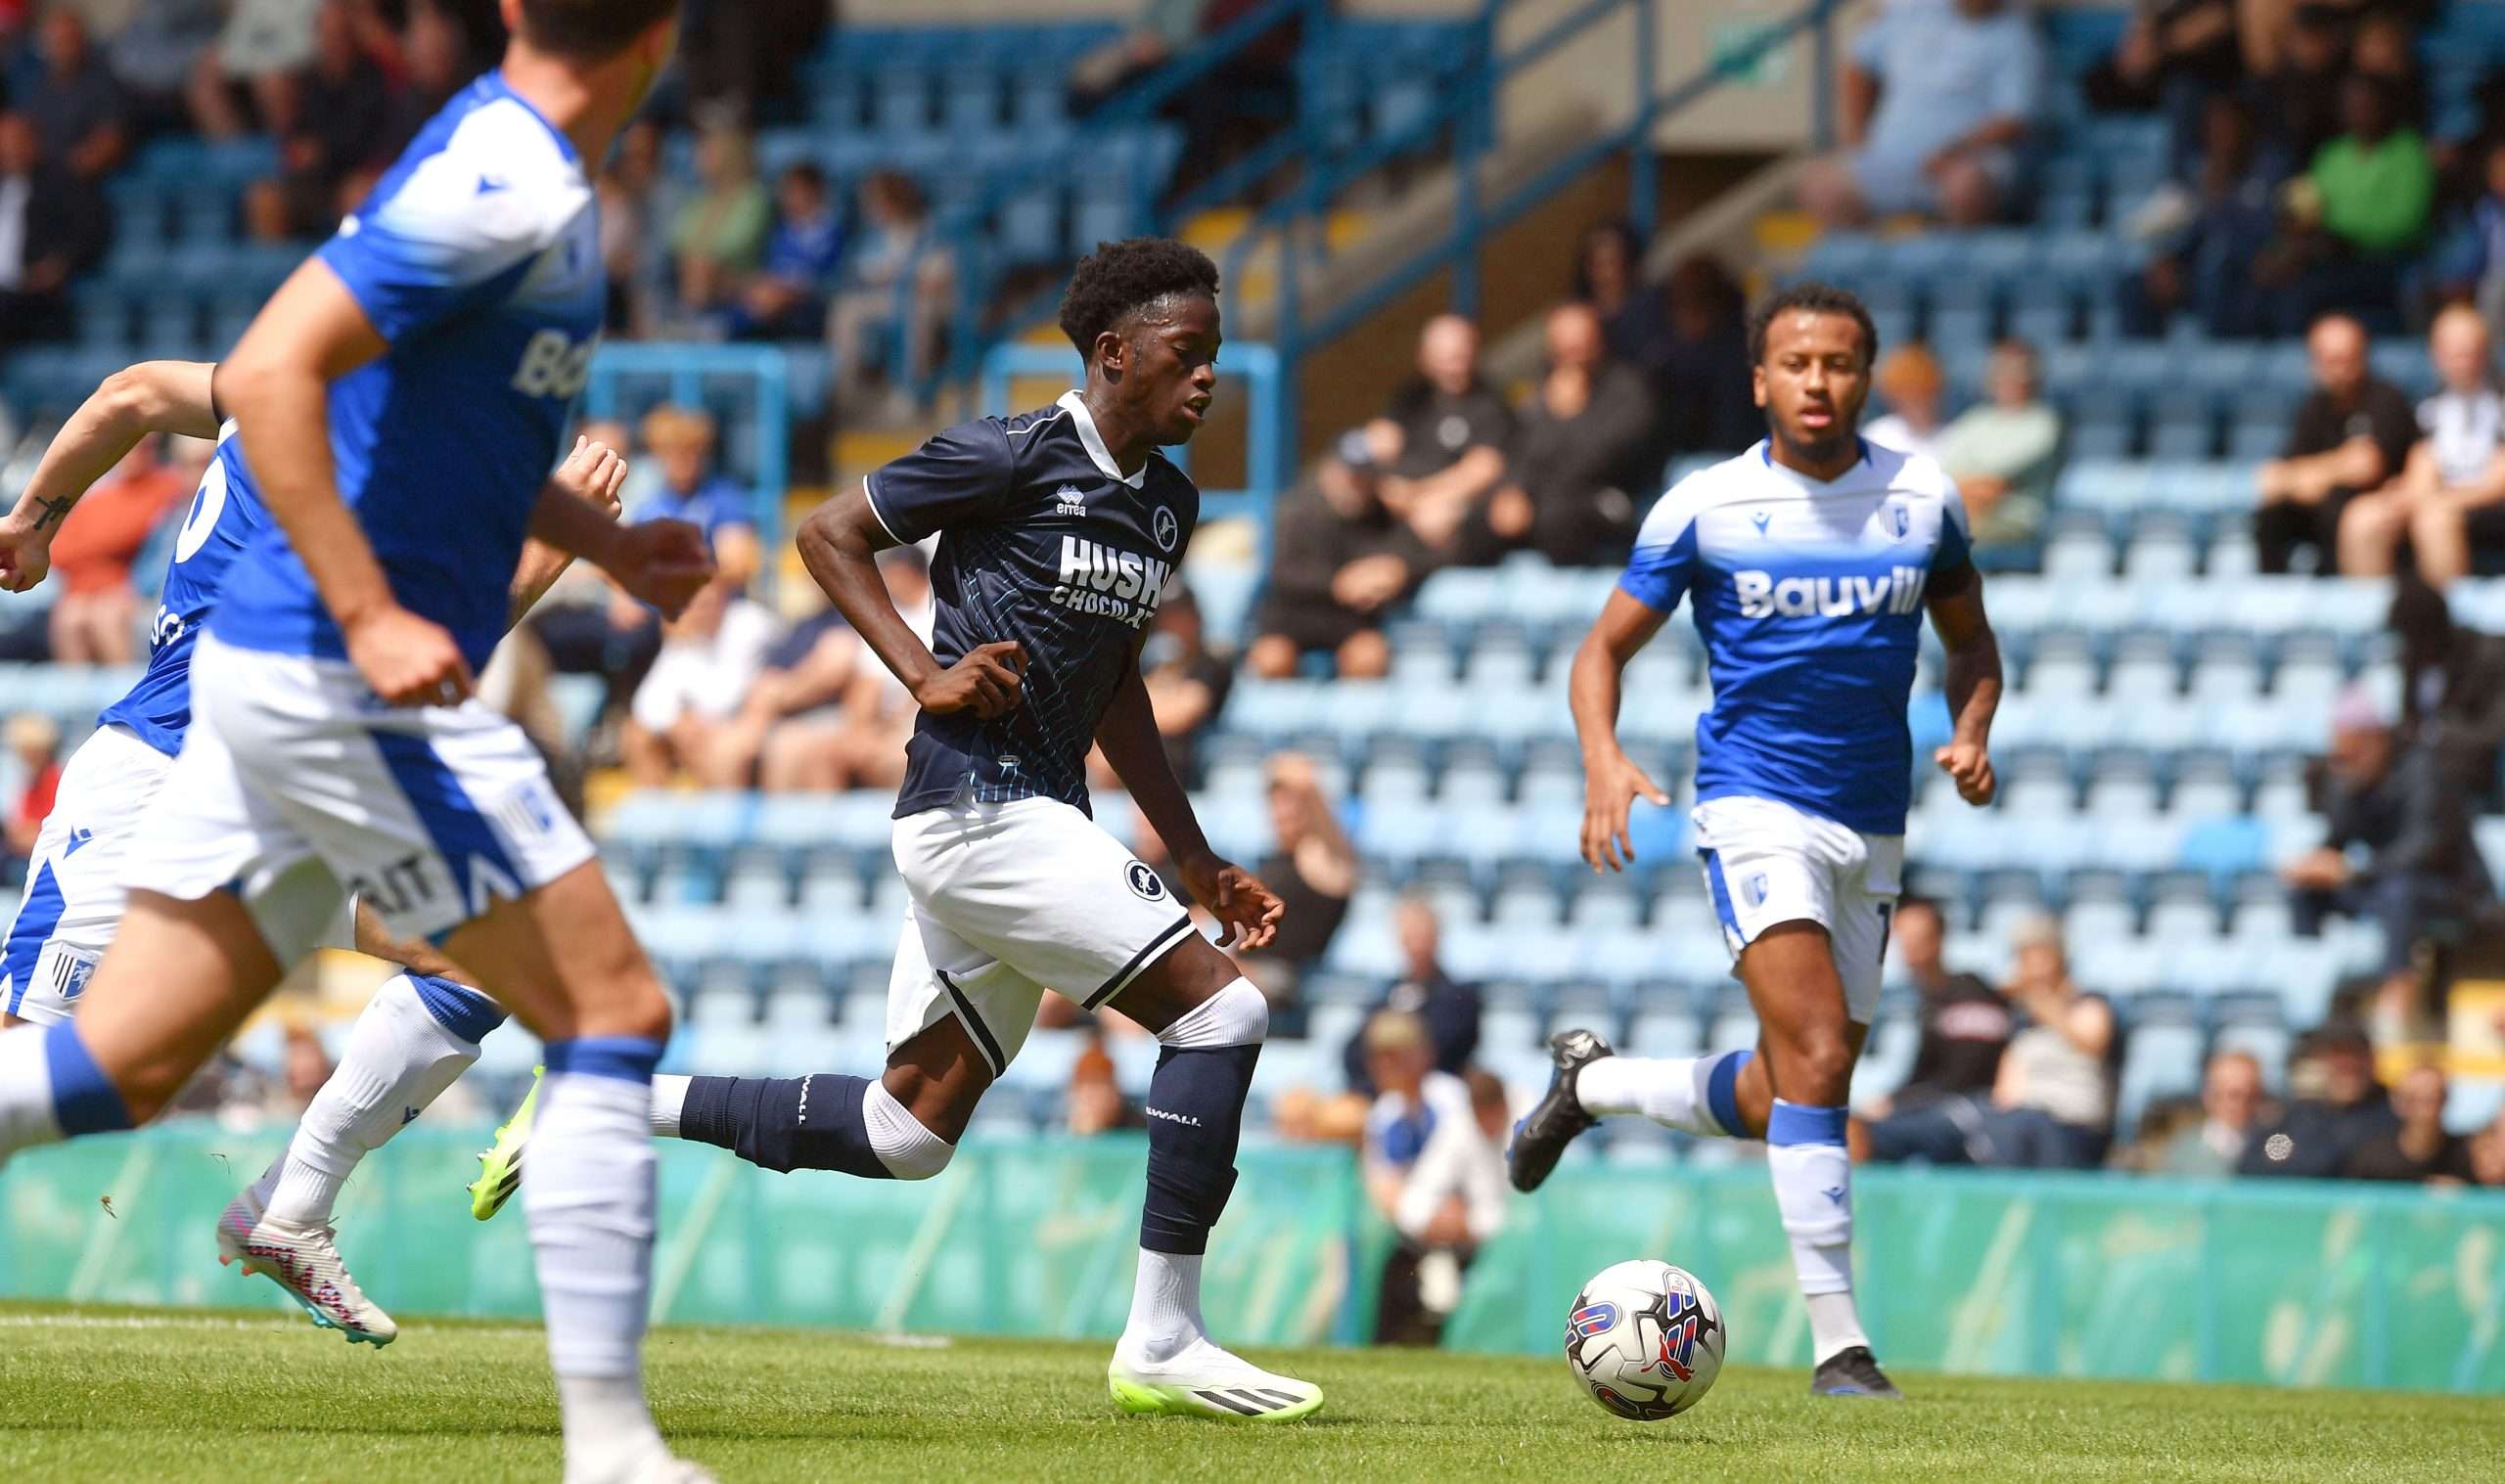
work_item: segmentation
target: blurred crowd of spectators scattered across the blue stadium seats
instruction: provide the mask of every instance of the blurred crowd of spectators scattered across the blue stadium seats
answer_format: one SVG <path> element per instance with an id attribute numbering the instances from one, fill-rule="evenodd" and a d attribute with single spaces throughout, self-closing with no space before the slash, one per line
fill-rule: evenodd
<path id="1" fill-rule="evenodd" d="M 38 18 L 0 0 L 0 345 L 70 333 L 73 290 L 113 233 L 105 185 L 135 140 L 273 135 L 283 175 L 240 203 L 243 225 L 303 238 L 491 55 L 491 10 L 138 0 L 48 5 Z M 83 18 L 98 13 L 123 25 L 90 33 Z M 2415 994 L 2427 923 L 2475 918 L 2495 901 L 2465 801 L 2487 798 L 2497 778 L 2505 638 L 2457 628 L 2437 591 L 2505 543 L 2505 398 L 2490 348 L 2505 315 L 2505 90 L 2482 90 L 2467 128 L 2430 115 L 2417 48 L 2430 13 L 2167 0 L 2137 8 L 2122 48 L 2087 78 L 2094 108 L 2159 113 L 2172 138 L 2169 183 L 2114 228 L 2147 245 L 2144 265 L 2112 285 L 2127 333 L 2302 335 L 2310 350 L 2315 385 L 2290 413 L 2285 453 L 2254 480 L 2260 571 L 2425 578 L 2392 606 L 2402 708 L 2385 713 L 2365 693 L 2337 701 L 2317 788 L 2325 846 L 2285 871 L 2305 923 L 2347 913 L 2385 928 L 2382 976 L 2305 1031 L 2287 1066 L 2219 1051 L 2197 1101 L 2159 1101 L 2132 1131 L 2117 1129 L 2114 1086 L 2129 1029 L 2097 986 L 2072 981 L 2059 923 L 2027 926 L 2007 983 L 1986 983 L 1946 968 L 1941 913 L 1906 901 L 1894 953 L 1919 991 L 1921 1046 L 1911 1079 L 1864 1109 L 1856 1141 L 1869 1159 L 2505 1184 L 2505 1119 L 2477 1136 L 2447 1134 L 2442 1071 L 2417 1066 L 2385 1086 L 2360 1029 L 2377 996 Z M 842 200 L 807 160 L 767 178 L 746 133 L 774 115 L 812 20 L 824 8 L 691 5 L 689 75 L 599 175 L 611 330 L 824 340 L 839 408 L 909 400 L 959 293 L 922 185 L 874 170 Z M 1090 65 L 1120 73 L 1122 55 L 1145 58 L 1145 40 L 1125 45 Z M 1956 0 L 1866 28 L 1846 68 L 1849 148 L 1814 163 L 1804 208 L 1834 228 L 2024 218 L 2042 73 L 2017 5 Z M 666 160 L 689 138 L 691 170 L 674 170 Z M 1513 553 L 1576 568 L 1623 561 L 1666 465 L 1761 433 L 1741 283 L 1708 255 L 1648 283 L 1643 255 L 1626 225 L 1586 238 L 1576 283 L 1541 320 L 1541 370 L 1526 385 L 1490 380 L 1473 320 L 1428 323 L 1415 378 L 1338 430 L 1280 496 L 1265 596 L 1242 636 L 1212 633 L 1182 586 L 1167 596 L 1142 663 L 1185 778 L 1197 776 L 1197 743 L 1237 676 L 1385 676 L 1388 626 L 1433 573 Z M 2370 360 L 2375 335 L 2400 333 L 2427 333 L 2425 380 L 2440 385 L 2415 408 Z M 1889 345 L 1876 368 L 1886 415 L 1869 435 L 1941 460 L 1984 566 L 2032 568 L 2072 445 L 2067 410 L 2047 393 L 2044 348 L 2004 338 L 1979 378 L 1949 360 L 1921 343 Z M 721 430 L 701 408 L 661 405 L 636 425 L 586 433 L 634 460 L 624 518 L 699 523 L 724 578 L 661 623 L 579 571 L 498 656 L 488 693 L 576 776 L 589 766 L 651 788 L 892 788 L 909 696 L 834 613 L 789 611 L 794 588 L 814 598 L 807 586 L 787 583 L 779 606 L 759 598 L 757 578 L 777 561 L 759 538 L 772 528 L 762 511 L 779 490 L 726 473 Z M 10 443 L 0 405 L 0 445 Z M 145 443 L 98 485 L 55 548 L 50 608 L 0 611 L 0 658 L 130 663 L 143 651 L 145 583 L 203 460 L 198 443 Z M 922 556 L 902 548 L 884 571 L 927 633 Z M 541 683 L 551 673 L 604 683 L 589 736 L 554 713 Z M 10 721 L 8 748 L 8 853 L 23 861 L 60 738 L 25 713 Z M 1273 851 L 1260 873 L 1290 916 L 1255 978 L 1293 1006 L 1365 861 L 1310 761 L 1273 758 L 1268 801 Z M 1468 1249 L 1498 1219 L 1480 1201 L 1478 1156 L 1500 1149 L 1503 1089 L 1473 1066 L 1480 1001 L 1440 968 L 1433 906 L 1405 901 L 1395 933 L 1405 971 L 1345 1046 L 1345 1091 L 1273 1111 L 1293 1136 L 1363 1144 L 1385 1214 L 1423 1259 Z M 1430 1104 L 1453 1111 L 1445 1126 L 1488 1124 L 1478 1156 L 1428 1159 Z M 1082 1056 L 1067 1124 L 1135 1121 L 1112 1061 Z M 1400 1331 L 1408 1319 L 1385 1324 Z"/>

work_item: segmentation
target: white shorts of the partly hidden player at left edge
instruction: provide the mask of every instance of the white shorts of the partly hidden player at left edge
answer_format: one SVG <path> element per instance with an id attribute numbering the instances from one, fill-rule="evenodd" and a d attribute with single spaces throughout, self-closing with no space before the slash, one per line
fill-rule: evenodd
<path id="1" fill-rule="evenodd" d="M 25 896 L 0 948 L 0 1011 L 20 1021 L 70 1019 L 88 976 L 130 906 L 123 883 L 130 841 L 173 758 L 125 726 L 100 726 L 60 768 L 60 793 L 35 838 Z M 323 948 L 356 946 L 353 901 L 321 933 Z"/>

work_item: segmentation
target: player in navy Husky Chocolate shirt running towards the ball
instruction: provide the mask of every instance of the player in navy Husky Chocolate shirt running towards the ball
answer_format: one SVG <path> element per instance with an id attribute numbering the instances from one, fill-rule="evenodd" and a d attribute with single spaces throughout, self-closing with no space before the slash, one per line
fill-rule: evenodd
<path id="1" fill-rule="evenodd" d="M 767 1169 L 929 1179 L 1017 1056 L 1045 988 L 1117 1006 L 1162 1051 L 1112 1396 L 1125 1411 L 1288 1421 L 1323 1391 L 1237 1359 L 1200 1321 L 1200 1256 L 1235 1186 L 1268 1004 L 1087 813 L 1097 746 L 1222 943 L 1270 941 L 1283 906 L 1202 838 L 1137 668 L 1200 516 L 1200 490 L 1157 448 L 1190 440 L 1217 385 L 1217 268 L 1185 243 L 1107 243 L 1080 263 L 1060 318 L 1087 360 L 1085 390 L 949 428 L 799 531 L 809 576 L 922 706 L 894 816 L 909 908 L 887 1071 L 661 1079 L 654 1131 Z M 877 553 L 929 536 L 937 621 L 924 646 Z M 529 1116 L 516 1116 L 488 1151 L 481 1214 L 511 1194 L 526 1136 Z"/>

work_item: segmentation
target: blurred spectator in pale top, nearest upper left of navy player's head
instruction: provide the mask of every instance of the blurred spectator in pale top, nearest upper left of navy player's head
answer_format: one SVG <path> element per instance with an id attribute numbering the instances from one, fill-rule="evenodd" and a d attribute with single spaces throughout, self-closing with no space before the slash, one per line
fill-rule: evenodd
<path id="1" fill-rule="evenodd" d="M 952 290 L 954 265 L 932 248 L 922 188 L 912 175 L 872 170 L 862 180 L 862 238 L 827 310 L 837 395 L 864 398 L 884 378 L 892 400 L 907 400 L 939 355 Z"/>

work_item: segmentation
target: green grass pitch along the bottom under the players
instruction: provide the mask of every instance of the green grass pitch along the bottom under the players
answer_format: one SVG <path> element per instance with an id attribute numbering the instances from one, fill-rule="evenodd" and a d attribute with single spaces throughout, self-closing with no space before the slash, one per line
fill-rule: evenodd
<path id="1" fill-rule="evenodd" d="M 659 1329 L 664 1431 L 724 1484 L 827 1479 L 2497 1479 L 2505 1401 L 1904 1376 L 1911 1401 L 1811 1401 L 1726 1371 L 1638 1426 L 1563 1361 L 1265 1356 L 1330 1391 L 1278 1429 L 1115 1416 L 1105 1346 Z M 0 1306 L 0 1479 L 253 1484 L 554 1479 L 529 1326 L 428 1324 L 383 1351 L 256 1314 Z"/>

